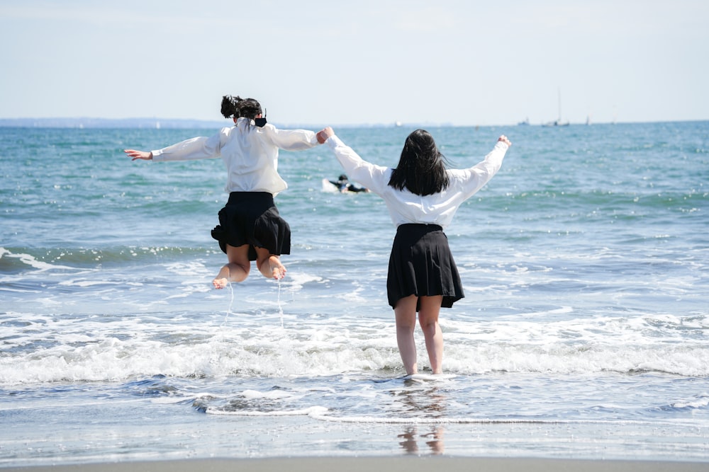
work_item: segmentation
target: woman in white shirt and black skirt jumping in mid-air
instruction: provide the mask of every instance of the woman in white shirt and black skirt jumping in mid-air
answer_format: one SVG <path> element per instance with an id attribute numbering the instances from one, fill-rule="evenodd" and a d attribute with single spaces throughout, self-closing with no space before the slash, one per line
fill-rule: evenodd
<path id="1" fill-rule="evenodd" d="M 282 279 L 286 267 L 281 254 L 291 253 L 291 229 L 281 218 L 274 196 L 288 185 L 278 174 L 278 151 L 300 151 L 318 145 L 315 132 L 284 130 L 266 123 L 261 104 L 253 98 L 224 96 L 221 113 L 234 120 L 212 137 L 196 137 L 157 151 L 125 149 L 125 154 L 147 161 L 186 161 L 221 157 L 227 168 L 229 200 L 219 212 L 212 237 L 219 241 L 228 263 L 214 277 L 223 289 L 242 282 L 251 261 L 267 278 Z"/>

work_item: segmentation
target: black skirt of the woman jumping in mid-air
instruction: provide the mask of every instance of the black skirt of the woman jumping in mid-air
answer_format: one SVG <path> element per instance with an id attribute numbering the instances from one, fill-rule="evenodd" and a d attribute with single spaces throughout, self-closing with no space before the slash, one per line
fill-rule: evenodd
<path id="1" fill-rule="evenodd" d="M 256 260 L 255 248 L 274 255 L 291 253 L 291 228 L 276 208 L 269 192 L 231 192 L 219 211 L 219 224 L 212 237 L 226 253 L 226 245 L 250 245 L 249 260 Z"/>

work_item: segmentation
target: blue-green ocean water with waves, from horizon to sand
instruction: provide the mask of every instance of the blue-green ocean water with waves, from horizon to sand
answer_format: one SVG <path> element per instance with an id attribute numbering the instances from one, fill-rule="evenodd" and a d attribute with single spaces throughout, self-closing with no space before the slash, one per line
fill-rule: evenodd
<path id="1" fill-rule="evenodd" d="M 281 152 L 284 280 L 224 290 L 218 160 L 131 162 L 206 129 L 0 129 L 0 466 L 203 457 L 709 461 L 709 122 L 430 127 L 501 171 L 447 229 L 466 290 L 443 376 L 406 378 L 395 229 Z M 336 129 L 395 166 L 411 127 Z M 430 371 L 428 371 L 430 372 Z"/>

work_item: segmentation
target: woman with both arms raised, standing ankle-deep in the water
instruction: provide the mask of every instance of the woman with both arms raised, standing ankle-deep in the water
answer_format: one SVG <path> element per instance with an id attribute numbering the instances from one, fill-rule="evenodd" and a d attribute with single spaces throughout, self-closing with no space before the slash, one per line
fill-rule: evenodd
<path id="1" fill-rule="evenodd" d="M 351 178 L 384 198 L 396 237 L 389 257 L 386 292 L 396 317 L 396 342 L 406 374 L 416 374 L 413 333 L 416 313 L 434 374 L 442 373 L 441 307 L 464 297 L 443 229 L 458 207 L 480 190 L 502 166 L 511 146 L 505 136 L 484 161 L 467 169 L 447 169 L 433 137 L 423 129 L 409 134 L 396 168 L 364 161 L 327 127 L 318 132 Z"/>

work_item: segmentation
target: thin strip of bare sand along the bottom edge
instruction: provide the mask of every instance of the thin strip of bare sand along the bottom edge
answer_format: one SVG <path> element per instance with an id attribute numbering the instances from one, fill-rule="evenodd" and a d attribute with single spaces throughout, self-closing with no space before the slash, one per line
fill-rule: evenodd
<path id="1" fill-rule="evenodd" d="M 11 467 L 4 471 L 22 472 L 423 472 L 433 467 L 450 472 L 694 472 L 709 471 L 708 462 L 681 461 L 605 461 L 575 459 L 508 459 L 468 457 L 313 457 L 278 459 L 196 459 L 184 461 L 137 461 L 103 464 L 70 464 L 38 467 Z"/>

